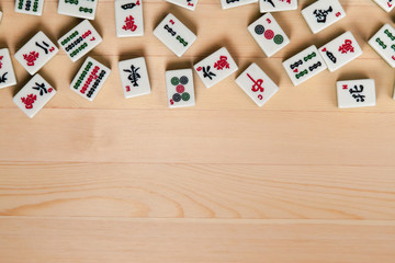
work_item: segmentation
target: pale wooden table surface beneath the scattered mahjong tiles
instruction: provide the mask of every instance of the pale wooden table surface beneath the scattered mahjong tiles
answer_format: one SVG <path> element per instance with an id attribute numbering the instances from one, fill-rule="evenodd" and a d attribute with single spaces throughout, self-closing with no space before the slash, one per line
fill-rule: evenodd
<path id="1" fill-rule="evenodd" d="M 30 76 L 0 90 L 1 263 L 394 263 L 394 70 L 366 44 L 395 18 L 372 0 L 341 0 L 347 16 L 313 35 L 301 9 L 274 13 L 291 44 L 267 58 L 247 31 L 249 4 L 191 12 L 145 0 L 145 36 L 116 38 L 113 0 L 93 25 L 90 56 L 112 73 L 94 100 L 69 83 L 83 59 L 64 52 L 40 73 L 58 91 L 33 119 L 12 102 Z M 1 0 L 0 47 L 15 53 L 38 30 L 54 42 L 80 20 L 16 14 Z M 153 28 L 172 12 L 198 35 L 177 58 Z M 363 55 L 293 87 L 281 62 L 351 31 Z M 195 75 L 196 106 L 167 107 L 165 70 L 226 46 L 240 73 L 257 62 L 280 91 L 261 108 L 236 85 Z M 117 61 L 145 56 L 153 93 L 124 99 Z M 339 110 L 336 81 L 374 78 L 377 106 Z"/>

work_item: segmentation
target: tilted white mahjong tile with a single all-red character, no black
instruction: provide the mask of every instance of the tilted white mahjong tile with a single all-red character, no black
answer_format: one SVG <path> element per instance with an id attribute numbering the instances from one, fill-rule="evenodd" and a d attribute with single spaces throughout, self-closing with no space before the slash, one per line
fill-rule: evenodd
<path id="1" fill-rule="evenodd" d="M 279 91 L 279 87 L 256 64 L 251 64 L 236 83 L 258 106 L 263 106 Z"/>

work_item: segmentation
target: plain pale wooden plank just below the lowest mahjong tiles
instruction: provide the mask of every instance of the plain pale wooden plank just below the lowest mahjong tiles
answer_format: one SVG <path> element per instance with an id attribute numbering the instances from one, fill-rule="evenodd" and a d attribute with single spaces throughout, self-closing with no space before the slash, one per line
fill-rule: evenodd
<path id="1" fill-rule="evenodd" d="M 2 110 L 1 161 L 394 165 L 395 113 Z"/>

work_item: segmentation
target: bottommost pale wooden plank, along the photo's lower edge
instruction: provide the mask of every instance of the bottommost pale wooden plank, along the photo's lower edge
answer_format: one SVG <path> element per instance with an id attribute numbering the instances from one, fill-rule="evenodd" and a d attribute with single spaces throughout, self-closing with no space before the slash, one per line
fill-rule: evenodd
<path id="1" fill-rule="evenodd" d="M 0 218 L 4 263 L 393 263 L 394 221 Z"/>

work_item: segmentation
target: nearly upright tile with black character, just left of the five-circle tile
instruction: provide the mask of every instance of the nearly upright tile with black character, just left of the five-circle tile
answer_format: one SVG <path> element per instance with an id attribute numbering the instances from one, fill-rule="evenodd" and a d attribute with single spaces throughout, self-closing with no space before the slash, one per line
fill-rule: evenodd
<path id="1" fill-rule="evenodd" d="M 150 93 L 148 71 L 144 57 L 120 61 L 119 70 L 126 99 Z"/>

